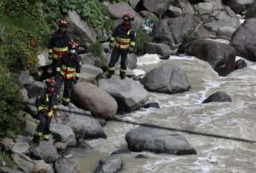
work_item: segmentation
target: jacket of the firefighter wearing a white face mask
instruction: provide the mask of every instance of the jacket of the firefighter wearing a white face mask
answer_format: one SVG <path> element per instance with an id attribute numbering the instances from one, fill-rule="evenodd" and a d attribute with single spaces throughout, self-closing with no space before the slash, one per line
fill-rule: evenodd
<path id="1" fill-rule="evenodd" d="M 57 72 L 60 72 L 63 78 L 68 80 L 74 80 L 80 77 L 81 70 L 81 57 L 79 55 L 65 54 L 61 56 Z"/>

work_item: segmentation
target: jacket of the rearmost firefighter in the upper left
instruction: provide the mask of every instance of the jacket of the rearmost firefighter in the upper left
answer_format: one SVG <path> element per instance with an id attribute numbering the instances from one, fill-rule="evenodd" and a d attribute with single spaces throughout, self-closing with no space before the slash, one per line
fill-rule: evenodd
<path id="1" fill-rule="evenodd" d="M 49 54 L 53 53 L 55 59 L 59 59 L 61 55 L 67 53 L 68 44 L 72 42 L 73 38 L 70 32 L 62 33 L 60 30 L 53 33 L 50 40 L 48 51 Z"/>

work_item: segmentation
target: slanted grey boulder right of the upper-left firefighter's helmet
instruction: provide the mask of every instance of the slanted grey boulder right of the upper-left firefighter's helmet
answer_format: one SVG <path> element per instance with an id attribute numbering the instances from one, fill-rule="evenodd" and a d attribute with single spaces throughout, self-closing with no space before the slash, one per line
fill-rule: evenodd
<path id="1" fill-rule="evenodd" d="M 75 11 L 68 11 L 69 29 L 85 42 L 96 42 L 96 32 Z"/>

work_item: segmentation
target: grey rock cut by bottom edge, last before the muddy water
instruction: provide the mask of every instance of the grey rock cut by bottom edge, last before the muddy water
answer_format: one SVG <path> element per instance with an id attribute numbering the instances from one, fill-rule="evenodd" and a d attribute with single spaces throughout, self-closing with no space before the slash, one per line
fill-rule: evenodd
<path id="1" fill-rule="evenodd" d="M 80 173 L 80 165 L 73 158 L 59 158 L 55 161 L 56 173 Z"/>

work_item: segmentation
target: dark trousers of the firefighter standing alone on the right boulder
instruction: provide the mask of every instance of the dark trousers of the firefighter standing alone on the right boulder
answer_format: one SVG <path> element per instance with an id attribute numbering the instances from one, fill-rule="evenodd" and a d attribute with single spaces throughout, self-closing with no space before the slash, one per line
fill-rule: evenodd
<path id="1" fill-rule="evenodd" d="M 127 54 L 128 54 L 128 49 L 117 49 L 114 47 L 110 61 L 108 63 L 109 69 L 113 69 L 113 70 L 110 70 L 109 72 L 114 73 L 114 66 L 119 61 L 119 56 L 121 56 L 120 72 L 122 72 L 122 70 L 125 71 L 126 70 Z"/>

